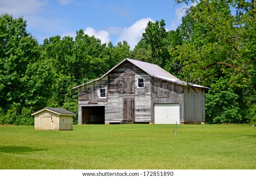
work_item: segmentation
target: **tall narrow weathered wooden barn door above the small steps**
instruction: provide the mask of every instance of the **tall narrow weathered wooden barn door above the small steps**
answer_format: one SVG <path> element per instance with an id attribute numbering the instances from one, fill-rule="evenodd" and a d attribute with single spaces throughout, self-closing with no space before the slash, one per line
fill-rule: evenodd
<path id="1" fill-rule="evenodd" d="M 134 98 L 123 99 L 123 119 L 134 119 Z"/>

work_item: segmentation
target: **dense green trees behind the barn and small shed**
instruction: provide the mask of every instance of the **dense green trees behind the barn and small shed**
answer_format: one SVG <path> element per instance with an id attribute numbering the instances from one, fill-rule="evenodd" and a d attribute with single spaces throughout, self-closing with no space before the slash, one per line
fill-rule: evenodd
<path id="1" fill-rule="evenodd" d="M 166 31 L 163 19 L 148 22 L 131 50 L 126 41 L 102 44 L 82 29 L 75 38 L 57 35 L 39 44 L 23 17 L 1 14 L 0 124 L 33 125 L 31 113 L 44 107 L 77 113 L 72 87 L 126 57 L 212 88 L 205 99 L 206 123 L 256 123 L 255 15 L 254 0 L 200 0 L 186 9 L 176 30 Z"/>

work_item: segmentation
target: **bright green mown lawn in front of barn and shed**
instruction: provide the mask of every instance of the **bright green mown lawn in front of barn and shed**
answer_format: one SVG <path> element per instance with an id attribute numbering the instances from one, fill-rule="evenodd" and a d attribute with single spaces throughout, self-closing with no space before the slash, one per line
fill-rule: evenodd
<path id="1" fill-rule="evenodd" d="M 256 169 L 256 127 L 173 126 L 0 126 L 0 169 Z"/>

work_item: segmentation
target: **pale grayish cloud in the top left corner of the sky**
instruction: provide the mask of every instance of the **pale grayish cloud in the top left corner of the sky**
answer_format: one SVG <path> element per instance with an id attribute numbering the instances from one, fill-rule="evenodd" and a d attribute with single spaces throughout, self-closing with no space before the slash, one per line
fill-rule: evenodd
<path id="1" fill-rule="evenodd" d="M 47 5 L 47 0 L 0 0 L 0 13 L 32 15 Z"/>

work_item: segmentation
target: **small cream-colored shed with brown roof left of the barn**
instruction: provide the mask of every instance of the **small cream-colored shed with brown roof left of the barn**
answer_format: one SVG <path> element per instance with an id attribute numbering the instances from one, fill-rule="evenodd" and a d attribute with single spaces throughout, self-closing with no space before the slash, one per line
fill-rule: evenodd
<path id="1" fill-rule="evenodd" d="M 44 108 L 31 115 L 35 115 L 35 130 L 73 130 L 76 114 L 62 108 Z"/>

